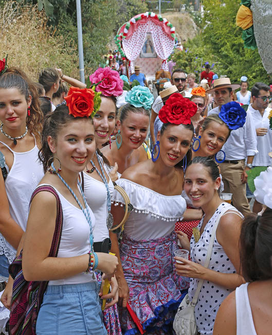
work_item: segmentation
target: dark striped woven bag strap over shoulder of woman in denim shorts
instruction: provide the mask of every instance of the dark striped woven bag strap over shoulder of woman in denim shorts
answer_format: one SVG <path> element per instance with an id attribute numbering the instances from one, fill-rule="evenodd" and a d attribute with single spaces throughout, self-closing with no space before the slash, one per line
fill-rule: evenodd
<path id="1" fill-rule="evenodd" d="M 60 247 L 62 225 L 63 225 L 63 213 L 62 213 L 62 207 L 61 207 L 61 200 L 60 200 L 60 197 L 59 197 L 58 193 L 56 192 L 56 190 L 53 187 L 51 187 L 50 185 L 42 185 L 42 186 L 39 186 L 37 189 L 35 189 L 34 192 L 32 193 L 29 206 L 31 204 L 31 201 L 32 201 L 33 197 L 41 191 L 50 192 L 53 195 L 55 195 L 55 197 L 57 199 L 56 226 L 55 226 L 55 231 L 54 231 L 54 235 L 53 235 L 53 239 L 52 239 L 50 252 L 49 252 L 49 255 L 48 255 L 48 257 L 57 257 L 59 247 Z"/>

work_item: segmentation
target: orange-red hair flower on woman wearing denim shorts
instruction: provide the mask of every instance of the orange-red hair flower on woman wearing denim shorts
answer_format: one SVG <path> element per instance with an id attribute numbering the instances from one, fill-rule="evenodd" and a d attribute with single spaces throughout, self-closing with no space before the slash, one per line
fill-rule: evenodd
<path id="1" fill-rule="evenodd" d="M 93 117 L 100 107 L 101 99 L 92 88 L 70 87 L 64 98 L 69 108 L 69 114 L 76 117 Z M 100 103 L 98 103 L 98 101 Z"/>

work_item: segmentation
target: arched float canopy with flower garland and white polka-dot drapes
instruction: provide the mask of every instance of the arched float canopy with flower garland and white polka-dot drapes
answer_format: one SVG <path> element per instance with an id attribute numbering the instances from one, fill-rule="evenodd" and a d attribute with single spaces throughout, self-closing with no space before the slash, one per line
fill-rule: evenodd
<path id="1" fill-rule="evenodd" d="M 115 36 L 117 48 L 122 57 L 129 60 L 130 71 L 134 72 L 134 61 L 140 54 L 148 30 L 156 53 L 163 60 L 161 68 L 168 71 L 167 59 L 175 45 L 175 27 L 161 15 L 146 12 L 132 17 L 119 28 Z"/>

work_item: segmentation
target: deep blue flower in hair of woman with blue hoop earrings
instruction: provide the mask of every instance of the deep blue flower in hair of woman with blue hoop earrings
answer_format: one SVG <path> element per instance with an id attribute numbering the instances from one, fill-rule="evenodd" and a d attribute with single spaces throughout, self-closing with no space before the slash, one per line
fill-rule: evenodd
<path id="1" fill-rule="evenodd" d="M 229 129 L 235 131 L 246 122 L 246 111 L 248 105 L 240 106 L 238 102 L 231 101 L 221 106 L 219 117 L 224 121 Z"/>

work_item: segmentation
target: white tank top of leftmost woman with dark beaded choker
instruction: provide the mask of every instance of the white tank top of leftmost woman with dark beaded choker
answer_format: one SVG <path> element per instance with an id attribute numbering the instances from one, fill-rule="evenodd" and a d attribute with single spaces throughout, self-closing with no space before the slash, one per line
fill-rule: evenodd
<path id="1" fill-rule="evenodd" d="M 30 151 L 16 153 L 7 144 L 0 143 L 13 154 L 13 164 L 5 180 L 10 216 L 25 231 L 31 195 L 44 176 L 43 165 L 38 158 L 39 148 L 35 140 L 35 146 Z M 0 254 L 5 254 L 11 263 L 15 252 L 0 234 Z"/>

